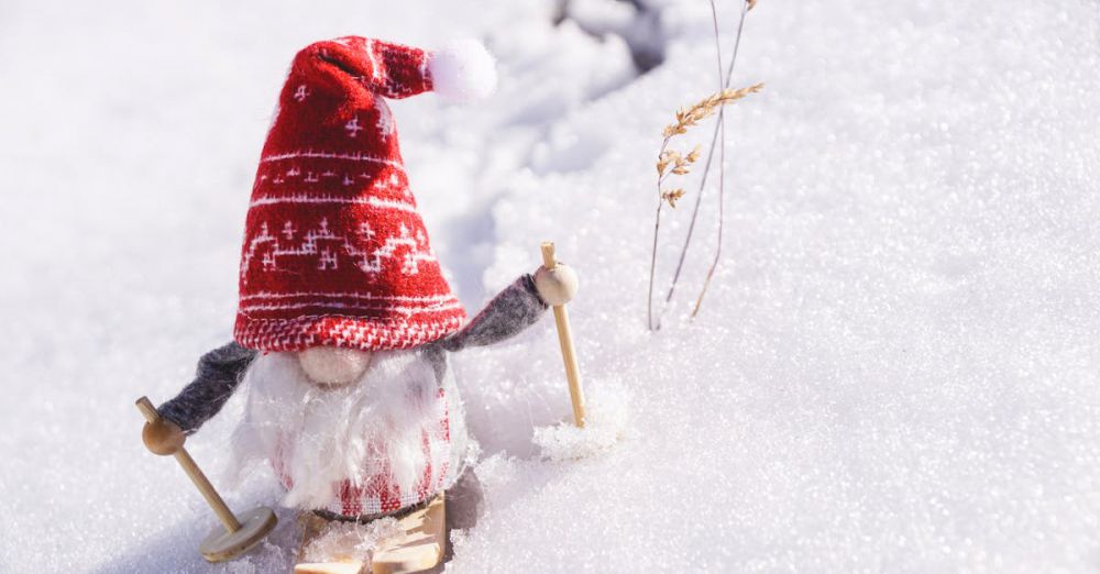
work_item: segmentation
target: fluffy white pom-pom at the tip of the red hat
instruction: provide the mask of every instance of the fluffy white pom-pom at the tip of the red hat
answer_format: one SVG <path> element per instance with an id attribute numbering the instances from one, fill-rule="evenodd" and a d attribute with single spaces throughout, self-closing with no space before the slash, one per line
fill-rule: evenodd
<path id="1" fill-rule="evenodd" d="M 476 40 L 458 40 L 431 55 L 428 71 L 441 96 L 469 101 L 496 89 L 496 60 Z"/>

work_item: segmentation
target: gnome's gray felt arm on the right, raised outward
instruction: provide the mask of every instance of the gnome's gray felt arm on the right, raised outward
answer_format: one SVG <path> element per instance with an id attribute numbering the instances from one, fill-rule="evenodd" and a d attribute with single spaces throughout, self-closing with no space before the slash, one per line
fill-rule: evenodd
<path id="1" fill-rule="evenodd" d="M 461 331 L 441 340 L 448 351 L 498 343 L 535 324 L 547 310 L 547 303 L 535 288 L 535 278 L 524 275 L 501 291 Z"/>

